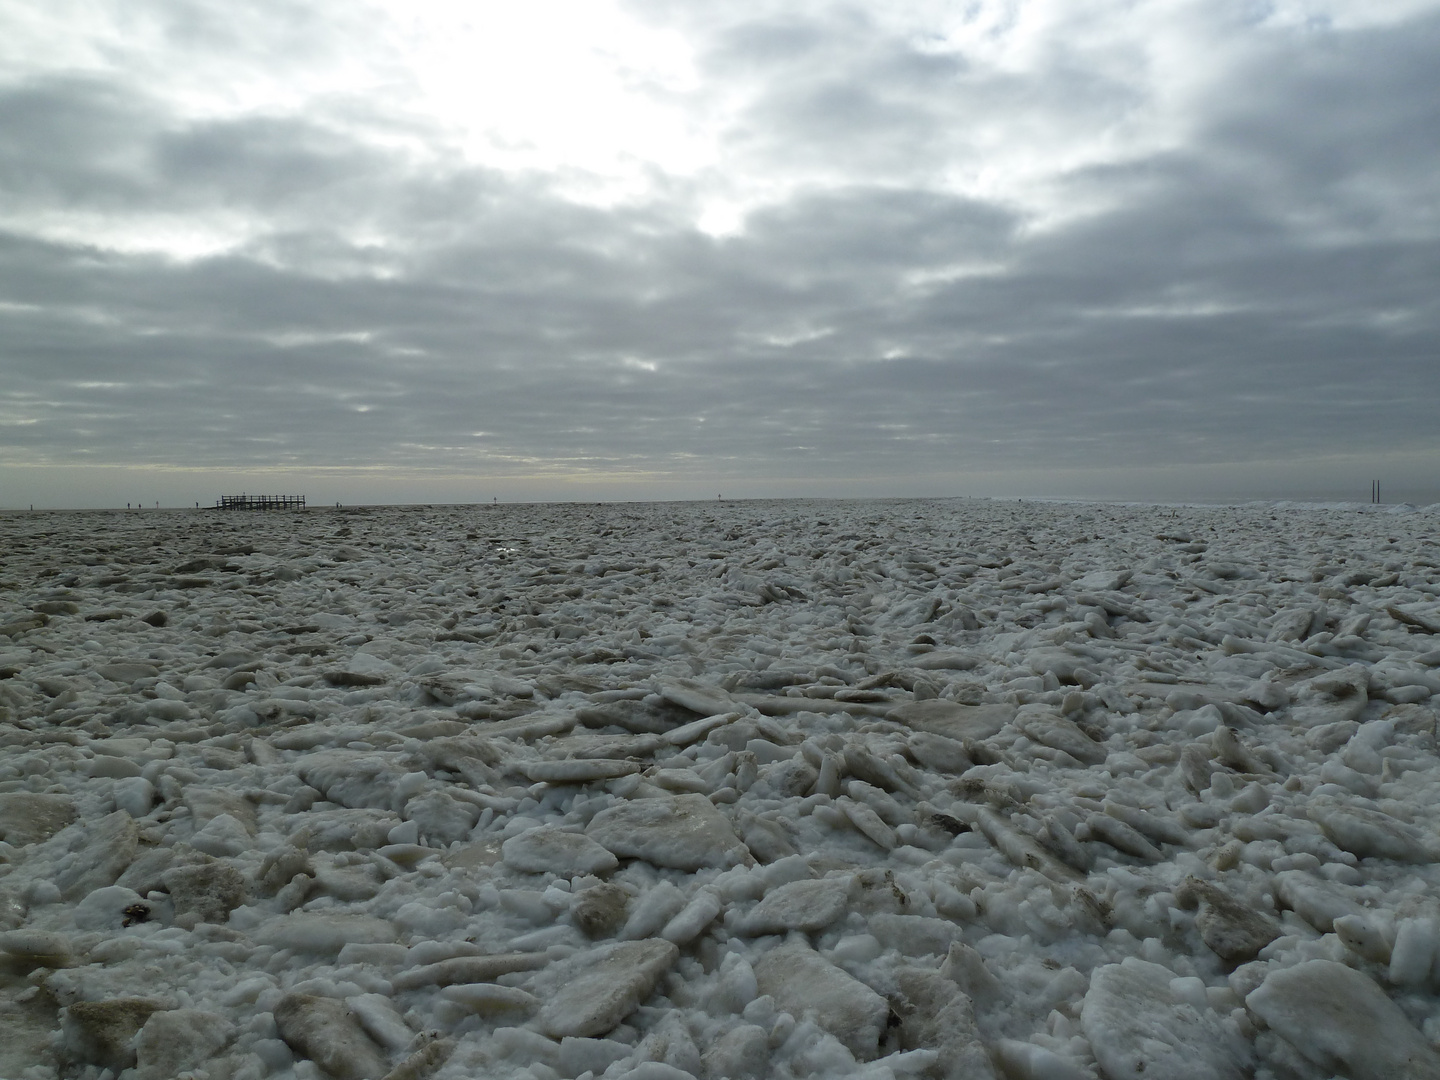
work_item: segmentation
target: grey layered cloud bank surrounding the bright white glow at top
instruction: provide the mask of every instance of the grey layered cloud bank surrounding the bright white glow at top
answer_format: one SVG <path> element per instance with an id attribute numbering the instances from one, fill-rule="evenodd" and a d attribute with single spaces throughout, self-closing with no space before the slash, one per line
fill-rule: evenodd
<path id="1" fill-rule="evenodd" d="M 840 9 L 707 33 L 700 92 L 747 88 L 721 147 L 792 181 L 723 236 L 696 225 L 713 170 L 585 204 L 563 171 L 475 164 L 384 101 L 206 117 L 117 73 L 0 86 L 0 480 L 873 494 L 1437 451 L 1440 17 L 1270 32 L 1182 141 L 1053 170 L 1048 210 L 936 177 L 979 153 L 982 117 L 1122 122 L 1135 85 L 1064 50 L 981 69 Z M 135 239 L 150 223 L 228 239 L 180 256 Z"/>

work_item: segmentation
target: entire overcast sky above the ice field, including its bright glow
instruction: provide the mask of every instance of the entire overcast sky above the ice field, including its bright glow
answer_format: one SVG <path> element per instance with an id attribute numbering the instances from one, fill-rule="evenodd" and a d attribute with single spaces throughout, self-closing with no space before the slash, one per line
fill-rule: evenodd
<path id="1" fill-rule="evenodd" d="M 1440 0 L 0 0 L 0 505 L 1440 501 Z"/>

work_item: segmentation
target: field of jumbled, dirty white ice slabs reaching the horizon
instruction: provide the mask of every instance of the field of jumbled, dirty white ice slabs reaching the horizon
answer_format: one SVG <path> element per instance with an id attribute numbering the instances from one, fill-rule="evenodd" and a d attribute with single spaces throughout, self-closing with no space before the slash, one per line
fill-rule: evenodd
<path id="1" fill-rule="evenodd" d="M 0 518 L 0 1076 L 1440 1077 L 1440 514 Z"/>

